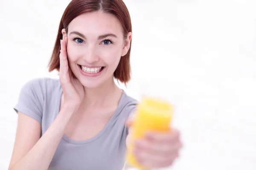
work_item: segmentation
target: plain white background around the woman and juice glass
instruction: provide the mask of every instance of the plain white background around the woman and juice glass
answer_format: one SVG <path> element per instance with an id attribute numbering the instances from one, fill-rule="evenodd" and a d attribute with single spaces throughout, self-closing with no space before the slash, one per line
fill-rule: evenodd
<path id="1" fill-rule="evenodd" d="M 0 170 L 15 140 L 22 85 L 47 72 L 70 0 L 0 1 Z M 256 170 L 256 1 L 125 0 L 133 24 L 132 80 L 178 95 L 184 143 L 174 170 Z"/>

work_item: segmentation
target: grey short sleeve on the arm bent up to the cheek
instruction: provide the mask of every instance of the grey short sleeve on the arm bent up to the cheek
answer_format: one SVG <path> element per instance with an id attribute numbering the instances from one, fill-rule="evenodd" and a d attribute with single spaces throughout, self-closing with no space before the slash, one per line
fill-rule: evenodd
<path id="1" fill-rule="evenodd" d="M 24 113 L 37 120 L 40 124 L 42 122 L 44 103 L 42 82 L 42 79 L 33 79 L 26 82 L 21 88 L 18 102 L 14 107 L 16 113 Z"/>

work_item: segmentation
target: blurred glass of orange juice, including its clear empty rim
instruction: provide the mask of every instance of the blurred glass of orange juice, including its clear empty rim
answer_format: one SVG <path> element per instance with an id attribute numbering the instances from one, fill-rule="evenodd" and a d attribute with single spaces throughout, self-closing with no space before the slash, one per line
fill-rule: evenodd
<path id="1" fill-rule="evenodd" d="M 163 89 L 162 89 L 163 90 Z M 134 156 L 134 141 L 142 139 L 148 131 L 165 133 L 170 130 L 174 112 L 174 94 L 161 93 L 154 86 L 144 86 L 131 126 L 130 144 L 126 150 L 125 170 L 146 170 Z"/>

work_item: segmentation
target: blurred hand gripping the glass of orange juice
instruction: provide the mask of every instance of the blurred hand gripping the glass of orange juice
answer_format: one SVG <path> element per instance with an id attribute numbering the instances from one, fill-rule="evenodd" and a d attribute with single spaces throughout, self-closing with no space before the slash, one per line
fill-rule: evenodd
<path id="1" fill-rule="evenodd" d="M 137 161 L 149 169 L 168 167 L 179 156 L 181 147 L 177 130 L 172 129 L 168 133 L 151 132 L 135 141 L 134 154 Z"/>

